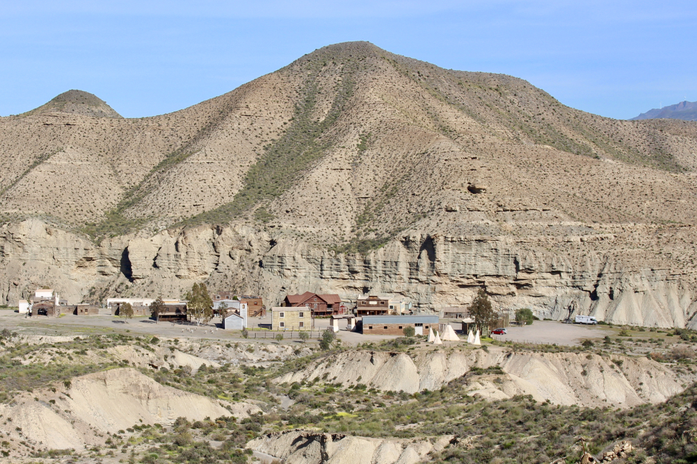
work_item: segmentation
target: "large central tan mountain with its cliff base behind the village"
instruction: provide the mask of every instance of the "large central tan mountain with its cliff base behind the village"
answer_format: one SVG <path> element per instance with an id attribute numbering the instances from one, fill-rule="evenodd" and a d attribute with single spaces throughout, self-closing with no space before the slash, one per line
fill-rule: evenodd
<path id="1" fill-rule="evenodd" d="M 330 45 L 153 118 L 0 118 L 0 301 L 366 293 L 697 324 L 697 125 Z"/>

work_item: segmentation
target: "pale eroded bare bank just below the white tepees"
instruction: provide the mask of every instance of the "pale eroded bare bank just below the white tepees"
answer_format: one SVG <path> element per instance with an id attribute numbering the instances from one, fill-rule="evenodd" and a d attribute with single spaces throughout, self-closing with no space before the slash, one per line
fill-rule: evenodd
<path id="1" fill-rule="evenodd" d="M 468 374 L 473 368 L 493 366 L 500 367 L 501 374 Z M 680 376 L 647 358 L 609 360 L 586 353 L 512 353 L 494 348 L 427 352 L 414 358 L 406 353 L 344 352 L 275 381 L 325 381 L 346 387 L 363 383 L 411 394 L 437 390 L 466 375 L 464 389 L 469 394 L 489 399 L 530 394 L 537 401 L 588 407 L 659 403 L 684 390 Z"/>

